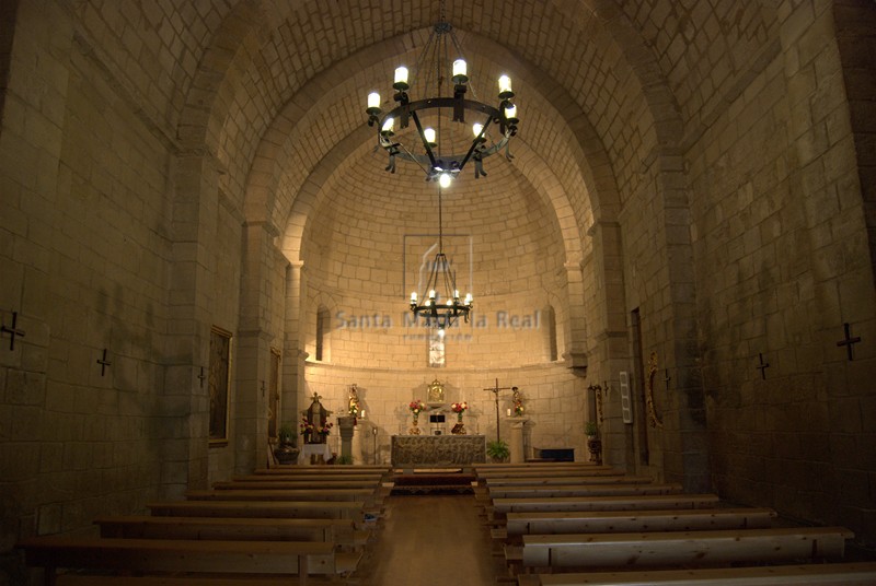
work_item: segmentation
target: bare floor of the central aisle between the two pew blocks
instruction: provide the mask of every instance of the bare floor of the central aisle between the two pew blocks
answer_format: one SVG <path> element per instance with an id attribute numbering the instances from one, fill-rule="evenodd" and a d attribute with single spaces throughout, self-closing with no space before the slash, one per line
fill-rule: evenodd
<path id="1" fill-rule="evenodd" d="M 376 540 L 359 563 L 361 586 L 492 586 L 493 556 L 474 495 L 392 495 Z"/>

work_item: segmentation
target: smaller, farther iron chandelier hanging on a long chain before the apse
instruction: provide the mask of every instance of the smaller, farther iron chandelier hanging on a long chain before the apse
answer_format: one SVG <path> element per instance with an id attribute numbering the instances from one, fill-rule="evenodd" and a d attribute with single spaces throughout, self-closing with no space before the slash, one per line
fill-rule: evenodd
<path id="1" fill-rule="evenodd" d="M 442 186 L 438 184 L 438 253 L 429 268 L 429 278 L 426 281 L 425 294 L 419 297 L 416 292 L 411 293 L 411 310 L 415 317 L 426 318 L 426 326 L 447 329 L 462 316 L 465 323 L 469 321 L 469 313 L 472 310 L 472 294 L 466 293 L 464 300 L 460 300 L 457 289 L 456 273 L 450 269 L 450 261 L 447 260 L 443 249 L 442 210 L 441 210 Z"/>

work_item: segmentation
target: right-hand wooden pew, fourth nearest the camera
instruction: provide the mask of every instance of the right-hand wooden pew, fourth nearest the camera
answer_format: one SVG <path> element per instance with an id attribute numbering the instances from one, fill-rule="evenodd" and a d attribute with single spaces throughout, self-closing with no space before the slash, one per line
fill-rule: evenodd
<path id="1" fill-rule="evenodd" d="M 636 496 L 545 496 L 493 499 L 495 514 L 546 511 L 648 511 L 706 508 L 718 504 L 716 494 L 647 494 Z"/>

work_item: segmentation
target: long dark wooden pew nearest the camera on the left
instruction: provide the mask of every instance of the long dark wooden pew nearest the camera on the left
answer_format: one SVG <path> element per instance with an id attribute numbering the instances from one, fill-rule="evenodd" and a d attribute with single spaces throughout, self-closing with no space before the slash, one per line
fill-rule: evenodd
<path id="1" fill-rule="evenodd" d="M 192 572 L 222 574 L 341 574 L 356 567 L 358 554 L 337 553 L 322 541 L 200 541 L 36 537 L 18 543 L 28 566 L 45 569 L 45 584 L 57 570 L 119 572 Z M 351 565 L 351 567 L 350 567 Z"/>

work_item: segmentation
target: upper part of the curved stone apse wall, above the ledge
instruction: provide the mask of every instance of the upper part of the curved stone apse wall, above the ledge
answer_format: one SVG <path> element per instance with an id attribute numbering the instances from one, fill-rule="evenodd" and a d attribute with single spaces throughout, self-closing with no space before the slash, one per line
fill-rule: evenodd
<path id="1" fill-rule="evenodd" d="M 429 367 L 433 329 L 414 321 L 407 301 L 437 251 L 437 186 L 406 169 L 385 174 L 381 163 L 366 157 L 367 176 L 336 177 L 326 185 L 309 220 L 301 246 L 303 347 L 315 360 L 322 307 L 330 317 L 322 362 Z M 443 250 L 460 294 L 474 295 L 471 321 L 447 330 L 446 367 L 507 367 L 556 358 L 550 332 L 558 328 L 545 309 L 567 313 L 560 230 L 552 209 L 503 163 L 497 161 L 486 179 L 466 176 L 443 190 Z M 562 352 L 562 341 L 558 348 Z"/>

